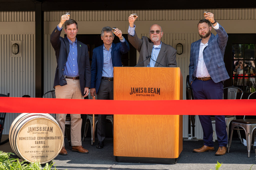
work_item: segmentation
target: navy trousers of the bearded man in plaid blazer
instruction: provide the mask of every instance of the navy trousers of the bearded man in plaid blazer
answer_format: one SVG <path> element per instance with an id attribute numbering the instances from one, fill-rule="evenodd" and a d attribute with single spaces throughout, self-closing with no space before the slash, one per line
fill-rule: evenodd
<path id="1" fill-rule="evenodd" d="M 223 83 L 215 83 L 212 79 L 208 81 L 194 80 L 191 84 L 193 90 L 194 99 L 206 100 L 206 99 L 223 99 Z M 201 110 L 207 112 L 208 109 L 218 106 L 205 106 L 204 102 L 201 103 Z M 213 130 L 210 115 L 199 115 L 199 120 L 204 132 L 204 145 L 213 147 Z M 228 135 L 226 130 L 226 121 L 224 115 L 215 115 L 215 128 L 219 146 L 227 146 Z"/>

